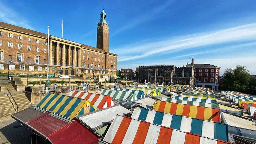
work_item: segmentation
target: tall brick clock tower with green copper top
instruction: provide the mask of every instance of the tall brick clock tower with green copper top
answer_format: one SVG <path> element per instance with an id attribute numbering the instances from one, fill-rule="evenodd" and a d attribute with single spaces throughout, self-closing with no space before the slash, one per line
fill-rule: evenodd
<path id="1" fill-rule="evenodd" d="M 106 23 L 106 13 L 103 11 L 100 13 L 100 22 L 97 27 L 97 48 L 108 52 L 109 47 L 109 29 Z"/>

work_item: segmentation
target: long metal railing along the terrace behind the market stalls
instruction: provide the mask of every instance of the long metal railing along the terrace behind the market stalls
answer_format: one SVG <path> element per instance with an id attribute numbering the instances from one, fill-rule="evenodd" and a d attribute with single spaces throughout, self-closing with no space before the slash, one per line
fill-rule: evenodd
<path id="1" fill-rule="evenodd" d="M 119 85 L 118 88 L 129 88 L 133 87 L 133 85 Z M 116 85 L 100 85 L 98 87 L 95 86 L 87 86 L 87 90 L 100 90 L 100 89 L 111 89 L 116 88 Z M 82 86 L 42 86 L 40 87 L 41 93 L 49 93 L 49 92 L 71 92 L 72 90 L 82 91 L 84 90 Z"/>

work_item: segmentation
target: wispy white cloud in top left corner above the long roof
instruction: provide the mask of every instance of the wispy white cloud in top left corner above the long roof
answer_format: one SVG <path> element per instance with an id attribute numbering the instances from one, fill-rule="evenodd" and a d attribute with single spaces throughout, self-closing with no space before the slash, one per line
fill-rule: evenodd
<path id="1" fill-rule="evenodd" d="M 33 29 L 29 21 L 22 17 L 17 11 L 0 2 L 0 20 L 24 28 Z"/>

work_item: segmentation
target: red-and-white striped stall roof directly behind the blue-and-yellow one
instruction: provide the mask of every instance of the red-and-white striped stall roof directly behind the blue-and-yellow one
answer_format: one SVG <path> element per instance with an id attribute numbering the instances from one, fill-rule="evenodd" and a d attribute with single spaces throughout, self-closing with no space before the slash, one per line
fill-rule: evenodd
<path id="1" fill-rule="evenodd" d="M 89 102 L 91 102 L 93 106 L 95 106 L 98 109 L 103 109 L 115 105 L 113 99 L 109 95 L 79 92 L 73 90 L 68 94 L 68 96 L 89 100 Z"/>

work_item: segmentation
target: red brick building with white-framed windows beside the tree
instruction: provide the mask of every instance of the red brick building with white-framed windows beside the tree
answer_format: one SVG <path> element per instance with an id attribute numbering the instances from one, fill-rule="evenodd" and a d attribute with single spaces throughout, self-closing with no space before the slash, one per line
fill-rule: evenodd
<path id="1" fill-rule="evenodd" d="M 212 90 L 218 90 L 219 75 L 220 67 L 218 66 L 210 64 L 195 64 L 194 79 L 196 87 L 207 87 Z"/>

